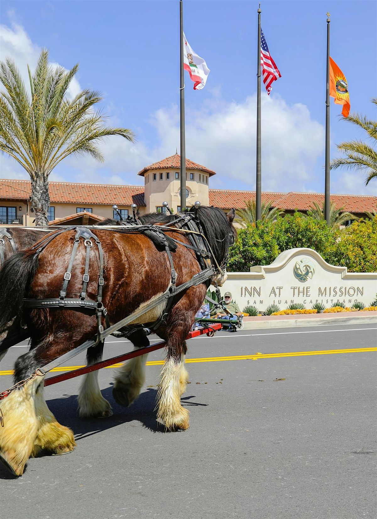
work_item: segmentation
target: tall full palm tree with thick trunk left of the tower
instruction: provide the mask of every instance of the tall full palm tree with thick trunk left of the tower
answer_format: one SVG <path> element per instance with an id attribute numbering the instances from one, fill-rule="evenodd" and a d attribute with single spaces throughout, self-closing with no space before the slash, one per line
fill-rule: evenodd
<path id="1" fill-rule="evenodd" d="M 42 49 L 32 76 L 30 92 L 11 59 L 0 63 L 0 151 L 14 158 L 30 175 L 31 206 L 35 225 L 47 225 L 50 205 L 48 177 L 53 168 L 69 155 L 88 153 L 104 161 L 97 143 L 109 135 L 121 135 L 133 142 L 126 128 L 111 128 L 93 106 L 101 101 L 98 92 L 83 90 L 72 100 L 66 91 L 78 70 L 65 71 L 48 64 L 48 51 Z"/>

